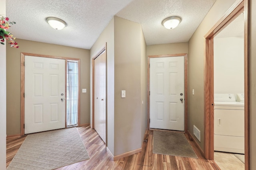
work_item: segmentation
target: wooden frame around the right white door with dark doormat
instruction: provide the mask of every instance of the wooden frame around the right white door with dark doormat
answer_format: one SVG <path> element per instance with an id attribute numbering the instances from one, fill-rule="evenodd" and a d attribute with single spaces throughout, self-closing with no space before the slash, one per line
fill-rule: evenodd
<path id="1" fill-rule="evenodd" d="M 184 57 L 184 132 L 188 133 L 188 54 L 173 54 L 173 55 L 151 55 L 148 56 L 148 70 L 147 70 L 147 129 L 150 129 L 150 59 L 160 57 Z"/>

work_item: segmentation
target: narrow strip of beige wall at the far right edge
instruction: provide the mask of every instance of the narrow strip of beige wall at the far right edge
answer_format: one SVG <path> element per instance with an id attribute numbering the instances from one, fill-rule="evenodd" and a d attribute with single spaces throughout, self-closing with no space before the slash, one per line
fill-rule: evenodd
<path id="1" fill-rule="evenodd" d="M 256 1 L 250 0 L 250 168 L 256 169 Z"/>

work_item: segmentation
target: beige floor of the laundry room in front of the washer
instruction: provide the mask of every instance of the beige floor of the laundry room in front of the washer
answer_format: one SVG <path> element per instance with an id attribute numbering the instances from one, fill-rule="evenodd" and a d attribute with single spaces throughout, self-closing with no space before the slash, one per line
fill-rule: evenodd
<path id="1" fill-rule="evenodd" d="M 221 170 L 244 170 L 244 163 L 234 153 L 214 152 L 214 161 Z"/>

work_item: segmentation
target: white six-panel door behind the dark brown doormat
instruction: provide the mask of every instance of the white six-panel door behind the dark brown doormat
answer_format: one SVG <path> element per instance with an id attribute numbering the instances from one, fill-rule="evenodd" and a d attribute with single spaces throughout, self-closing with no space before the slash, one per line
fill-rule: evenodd
<path id="1" fill-rule="evenodd" d="M 184 56 L 150 58 L 150 128 L 184 131 Z"/>

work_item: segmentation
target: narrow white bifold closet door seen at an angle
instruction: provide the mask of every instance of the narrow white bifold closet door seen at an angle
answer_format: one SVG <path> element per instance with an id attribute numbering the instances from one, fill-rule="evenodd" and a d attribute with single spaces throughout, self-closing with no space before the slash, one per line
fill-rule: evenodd
<path id="1" fill-rule="evenodd" d="M 94 129 L 106 143 L 106 51 L 94 59 Z"/>

